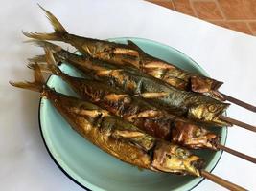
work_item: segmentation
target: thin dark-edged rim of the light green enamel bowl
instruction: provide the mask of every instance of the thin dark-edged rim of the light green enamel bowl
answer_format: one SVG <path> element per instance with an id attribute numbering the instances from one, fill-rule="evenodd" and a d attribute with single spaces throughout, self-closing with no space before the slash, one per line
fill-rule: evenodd
<path id="1" fill-rule="evenodd" d="M 115 40 L 148 41 L 148 42 L 151 42 L 151 43 L 153 43 L 153 44 L 157 44 L 157 45 L 160 45 L 160 46 L 162 46 L 162 47 L 165 47 L 165 48 L 167 48 L 167 49 L 173 49 L 173 50 L 175 50 L 175 52 L 181 53 L 183 56 L 185 56 L 187 59 L 189 59 L 193 64 L 195 64 L 195 65 L 197 66 L 197 68 L 198 68 L 200 71 L 202 71 L 204 74 L 206 74 L 206 76 L 209 76 L 209 74 L 208 74 L 195 60 L 193 60 L 190 56 L 188 56 L 188 55 L 185 54 L 185 53 L 182 53 L 181 51 L 175 49 L 175 48 L 172 47 L 172 46 L 169 46 L 169 45 L 166 45 L 166 44 L 163 44 L 163 43 L 160 43 L 160 42 L 156 42 L 156 41 L 151 40 L 151 39 L 147 39 L 147 38 L 138 38 L 138 37 L 116 37 L 116 38 L 108 38 L 107 40 L 109 40 L 109 41 L 115 41 Z M 51 75 L 47 78 L 46 84 L 49 82 L 49 80 L 51 79 L 51 77 L 53 77 L 53 74 L 51 74 Z M 66 177 L 68 177 L 70 180 L 72 180 L 73 182 L 75 182 L 76 184 L 78 184 L 79 186 L 81 186 L 81 188 L 83 188 L 83 189 L 85 189 L 85 190 L 87 190 L 87 191 L 93 191 L 93 190 L 91 190 L 90 188 L 88 188 L 88 187 L 86 187 L 85 185 L 83 185 L 79 180 L 76 180 L 75 178 L 73 178 L 66 170 L 64 170 L 64 168 L 58 163 L 57 159 L 56 159 L 56 158 L 54 157 L 54 155 L 51 153 L 50 148 L 49 148 L 49 146 L 48 146 L 47 143 L 46 143 L 46 139 L 44 138 L 44 134 L 43 134 L 43 130 L 42 130 L 42 125 L 41 125 L 41 108 L 42 108 L 41 106 L 42 106 L 42 100 L 43 100 L 43 98 L 40 97 L 40 99 L 39 99 L 39 105 L 38 105 L 38 123 L 39 123 L 40 136 L 41 136 L 41 138 L 42 138 L 42 140 L 43 140 L 43 143 L 44 143 L 44 146 L 45 146 L 45 148 L 46 148 L 46 150 L 47 150 L 47 153 L 49 154 L 49 156 L 51 157 L 51 159 L 53 159 L 53 161 L 55 162 L 55 164 L 58 166 L 58 169 L 59 169 L 60 171 L 62 171 L 62 172 L 64 173 L 64 175 L 66 175 Z M 225 144 L 226 144 L 226 140 L 227 140 L 228 128 L 227 128 L 227 127 L 222 127 L 222 128 L 225 128 L 225 131 L 226 131 L 225 137 L 224 137 L 224 142 L 223 142 L 223 144 L 225 145 Z M 212 169 L 209 170 L 209 172 L 212 172 L 212 171 L 215 169 L 215 167 L 217 166 L 217 164 L 219 163 L 219 161 L 220 161 L 220 159 L 221 159 L 221 157 L 222 157 L 223 151 L 221 150 L 221 151 L 219 151 L 219 152 L 221 152 L 220 157 L 219 157 L 219 159 L 217 159 L 216 163 L 214 164 L 214 166 L 212 167 Z M 199 180 L 195 185 L 193 185 L 190 189 L 188 189 L 187 191 L 193 190 L 194 188 L 196 188 L 196 187 L 198 186 L 198 184 L 200 184 L 203 180 L 205 180 L 205 178 L 202 178 L 202 177 L 199 177 L 199 179 L 200 179 L 200 180 Z M 88 182 L 88 183 L 89 183 L 89 182 Z M 95 185 L 93 185 L 93 186 L 95 186 Z M 96 186 L 96 187 L 97 187 L 97 186 Z"/>

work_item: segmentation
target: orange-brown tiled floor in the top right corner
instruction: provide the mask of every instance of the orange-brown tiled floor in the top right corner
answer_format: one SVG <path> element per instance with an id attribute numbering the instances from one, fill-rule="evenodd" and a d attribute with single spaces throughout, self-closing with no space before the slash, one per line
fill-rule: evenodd
<path id="1" fill-rule="evenodd" d="M 149 0 L 218 26 L 256 35 L 255 0 Z"/>

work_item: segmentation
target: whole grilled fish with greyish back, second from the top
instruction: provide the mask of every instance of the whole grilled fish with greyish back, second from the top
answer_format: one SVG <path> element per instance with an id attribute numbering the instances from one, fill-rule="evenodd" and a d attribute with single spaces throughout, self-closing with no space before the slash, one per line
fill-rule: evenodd
<path id="1" fill-rule="evenodd" d="M 190 118 L 204 125 L 230 125 L 219 119 L 229 104 L 209 96 L 177 90 L 160 80 L 155 80 L 149 75 L 140 74 L 132 69 L 116 68 L 115 65 L 93 59 L 90 56 L 69 53 L 49 42 L 34 42 L 50 49 L 58 62 L 71 64 L 84 74 L 114 88 L 120 88 L 130 95 L 141 96 L 155 107 L 164 109 L 175 116 Z M 45 62 L 45 56 L 39 55 L 30 60 Z"/>

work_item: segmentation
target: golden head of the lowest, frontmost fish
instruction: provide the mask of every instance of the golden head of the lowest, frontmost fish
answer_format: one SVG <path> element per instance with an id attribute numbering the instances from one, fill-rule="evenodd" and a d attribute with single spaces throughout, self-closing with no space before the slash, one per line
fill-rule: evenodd
<path id="1" fill-rule="evenodd" d="M 190 151 L 164 141 L 158 142 L 153 153 L 152 167 L 163 172 L 200 176 L 203 160 Z"/>

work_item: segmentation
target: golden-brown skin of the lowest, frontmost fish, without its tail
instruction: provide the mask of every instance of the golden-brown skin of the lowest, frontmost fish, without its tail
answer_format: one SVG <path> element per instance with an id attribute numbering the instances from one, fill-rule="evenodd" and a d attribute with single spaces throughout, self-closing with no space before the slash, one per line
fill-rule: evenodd
<path id="1" fill-rule="evenodd" d="M 105 152 L 121 159 L 122 161 L 141 168 L 151 169 L 153 171 L 160 170 L 164 172 L 186 174 L 188 172 L 184 172 L 184 167 L 181 166 L 180 168 L 179 165 L 183 162 L 187 162 L 189 171 L 191 171 L 189 166 L 189 162 L 191 161 L 188 162 L 187 160 L 198 160 L 198 157 L 191 156 L 189 153 L 188 158 L 191 159 L 184 159 L 184 161 L 182 161 L 181 156 L 175 156 L 177 155 L 175 151 L 178 148 L 182 148 L 162 141 L 159 141 L 158 143 L 155 138 L 146 135 L 123 120 L 118 120 L 116 117 L 109 116 L 106 111 L 101 111 L 99 108 L 89 103 L 81 102 L 81 100 L 76 100 L 66 96 L 60 96 L 58 99 L 54 98 L 52 103 L 57 107 L 58 112 L 69 121 L 72 127 L 80 133 L 82 137 L 87 138 Z M 93 116 L 90 113 L 86 114 L 87 111 L 96 111 L 97 115 Z M 172 151 L 172 153 L 169 151 L 168 154 L 175 158 L 176 164 L 173 162 L 174 159 L 172 162 L 163 162 L 162 160 L 158 161 L 156 159 L 151 159 L 151 155 L 148 152 L 151 151 L 154 145 L 158 145 L 160 143 L 170 150 L 175 150 Z M 167 153 L 162 155 L 167 155 Z M 166 163 L 172 164 L 169 164 L 170 167 L 168 169 L 161 169 L 161 166 L 166 165 Z M 173 166 L 175 166 L 176 169 L 173 170 Z M 193 171 L 195 170 L 196 169 L 193 169 Z"/>

